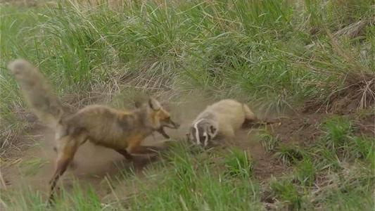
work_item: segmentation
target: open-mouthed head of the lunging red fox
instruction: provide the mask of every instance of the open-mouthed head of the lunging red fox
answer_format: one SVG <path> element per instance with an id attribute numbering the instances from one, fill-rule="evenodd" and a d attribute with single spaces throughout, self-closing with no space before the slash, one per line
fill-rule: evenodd
<path id="1" fill-rule="evenodd" d="M 148 102 L 143 104 L 136 102 L 135 106 L 136 108 L 146 109 L 146 115 L 153 129 L 158 130 L 163 127 L 172 129 L 179 128 L 179 124 L 171 119 L 170 113 L 167 112 L 155 98 L 149 98 Z"/>

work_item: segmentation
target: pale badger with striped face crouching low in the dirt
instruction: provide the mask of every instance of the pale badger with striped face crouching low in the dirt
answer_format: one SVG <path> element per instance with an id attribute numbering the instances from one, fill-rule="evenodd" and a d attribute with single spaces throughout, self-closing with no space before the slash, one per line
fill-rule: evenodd
<path id="1" fill-rule="evenodd" d="M 205 108 L 193 121 L 186 136 L 196 145 L 206 147 L 214 144 L 212 140 L 219 136 L 231 141 L 245 121 L 257 120 L 258 118 L 245 104 L 225 99 Z"/>

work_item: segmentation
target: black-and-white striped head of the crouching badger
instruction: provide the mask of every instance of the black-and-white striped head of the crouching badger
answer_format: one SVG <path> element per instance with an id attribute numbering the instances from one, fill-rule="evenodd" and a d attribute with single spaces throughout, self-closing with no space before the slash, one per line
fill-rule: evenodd
<path id="1" fill-rule="evenodd" d="M 201 119 L 196 121 L 186 134 L 187 138 L 198 146 L 208 146 L 218 132 L 216 122 Z"/>

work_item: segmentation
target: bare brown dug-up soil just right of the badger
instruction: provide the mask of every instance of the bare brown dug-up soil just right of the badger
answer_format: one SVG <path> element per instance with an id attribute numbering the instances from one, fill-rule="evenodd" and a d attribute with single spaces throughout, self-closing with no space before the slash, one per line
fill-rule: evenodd
<path id="1" fill-rule="evenodd" d="M 274 151 L 265 151 L 257 136 L 257 130 L 265 127 L 279 141 L 278 146 L 281 144 L 306 146 L 317 140 L 317 137 L 322 134 L 319 124 L 330 115 L 326 113 L 296 113 L 291 117 L 272 120 L 275 123 L 266 126 L 253 126 L 239 132 L 235 145 L 250 151 L 255 161 L 255 177 L 262 181 L 272 176 L 277 177 L 291 169 L 274 156 Z"/>

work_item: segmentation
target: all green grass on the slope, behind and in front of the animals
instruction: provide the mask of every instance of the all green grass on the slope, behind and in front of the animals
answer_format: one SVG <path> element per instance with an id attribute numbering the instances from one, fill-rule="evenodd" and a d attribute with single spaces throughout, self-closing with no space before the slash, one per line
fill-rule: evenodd
<path id="1" fill-rule="evenodd" d="M 198 89 L 214 98 L 236 96 L 260 102 L 262 110 L 272 113 L 295 108 L 310 98 L 325 101 L 348 86 L 348 72 L 374 73 L 373 25 L 365 27 L 360 37 L 335 41 L 328 36 L 359 20 L 370 20 L 371 1 L 298 2 L 1 6 L 2 144 L 11 144 L 12 136 L 7 134 L 23 127 L 14 115 L 22 110 L 23 101 L 6 70 L 6 63 L 17 57 L 39 65 L 60 96 L 117 86 L 115 94 L 127 86 L 179 95 Z M 350 127 L 345 121 L 336 124 Z M 262 192 L 268 188 L 281 207 L 369 209 L 374 188 L 373 139 L 347 133 L 329 122 L 324 125 L 326 135 L 303 150 L 305 159 L 290 160 L 293 173 L 265 186 L 251 176 L 251 163 L 241 152 L 224 158 L 220 166 L 210 165 L 205 155 L 195 157 L 176 146 L 173 149 L 179 153 L 172 152 L 150 170 L 156 176 L 149 179 L 162 185 L 148 191 L 145 185 L 145 191 L 125 202 L 113 200 L 107 208 L 258 210 L 255 207 L 262 207 Z M 284 160 L 290 154 L 288 148 L 277 153 Z M 161 172 L 161 167 L 167 170 Z M 332 184 L 317 186 L 321 177 Z M 135 177 L 127 181 L 141 187 L 144 183 Z M 43 209 L 40 194 L 27 193 L 20 200 L 8 197 L 6 202 Z M 61 210 L 103 207 L 94 191 L 82 194 L 77 188 L 65 197 L 72 203 L 58 203 Z"/>

